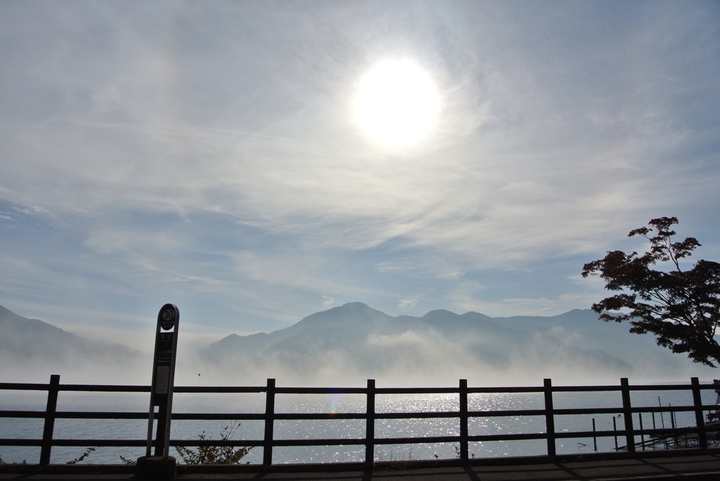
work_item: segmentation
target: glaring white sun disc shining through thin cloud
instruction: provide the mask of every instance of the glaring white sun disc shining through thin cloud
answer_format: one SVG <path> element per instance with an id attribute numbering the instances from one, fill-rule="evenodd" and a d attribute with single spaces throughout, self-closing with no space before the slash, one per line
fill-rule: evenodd
<path id="1" fill-rule="evenodd" d="M 386 59 L 358 83 L 352 101 L 354 123 L 383 147 L 410 147 L 436 124 L 440 96 L 431 76 L 412 60 Z"/>

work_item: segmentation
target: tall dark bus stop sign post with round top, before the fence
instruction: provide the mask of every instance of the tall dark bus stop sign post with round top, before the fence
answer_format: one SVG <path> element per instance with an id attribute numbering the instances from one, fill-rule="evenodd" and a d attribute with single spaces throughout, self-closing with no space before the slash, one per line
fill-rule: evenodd
<path id="1" fill-rule="evenodd" d="M 170 421 L 173 408 L 175 354 L 178 345 L 180 312 L 174 304 L 166 304 L 158 313 L 153 361 L 153 385 L 150 388 L 150 416 L 148 420 L 147 456 L 153 446 L 153 416 L 158 408 L 155 456 L 168 457 Z"/>

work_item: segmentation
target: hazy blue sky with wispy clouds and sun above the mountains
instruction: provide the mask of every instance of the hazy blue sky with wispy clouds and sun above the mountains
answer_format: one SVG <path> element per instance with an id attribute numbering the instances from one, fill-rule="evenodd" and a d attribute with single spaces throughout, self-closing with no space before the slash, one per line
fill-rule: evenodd
<path id="1" fill-rule="evenodd" d="M 0 305 L 130 343 L 589 308 L 649 219 L 720 260 L 719 112 L 714 1 L 1 2 Z"/>

